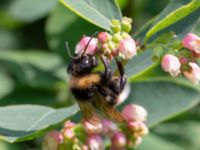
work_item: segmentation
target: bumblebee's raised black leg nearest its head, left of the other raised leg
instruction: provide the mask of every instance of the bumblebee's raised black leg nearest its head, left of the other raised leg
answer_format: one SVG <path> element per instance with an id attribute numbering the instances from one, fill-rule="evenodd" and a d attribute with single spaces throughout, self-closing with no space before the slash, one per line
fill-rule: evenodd
<path id="1" fill-rule="evenodd" d="M 104 71 L 104 73 L 103 73 L 103 75 L 102 75 L 102 81 L 101 81 L 101 82 L 102 82 L 104 85 L 106 85 L 106 84 L 108 84 L 108 83 L 111 81 L 111 79 L 112 79 L 112 72 L 111 72 L 111 69 L 110 69 L 110 67 L 109 67 L 109 65 L 108 65 L 107 59 L 106 59 L 103 55 L 101 55 L 101 61 L 102 61 L 103 65 L 104 65 L 104 67 L 105 67 L 105 71 Z"/>

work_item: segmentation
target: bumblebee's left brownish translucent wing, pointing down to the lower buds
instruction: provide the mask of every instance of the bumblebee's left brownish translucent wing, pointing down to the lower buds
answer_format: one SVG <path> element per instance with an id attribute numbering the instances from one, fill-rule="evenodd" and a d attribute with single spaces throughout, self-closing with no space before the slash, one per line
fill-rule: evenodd
<path id="1" fill-rule="evenodd" d="M 85 121 L 88 121 L 93 125 L 101 123 L 101 120 L 96 115 L 95 108 L 91 102 L 78 102 L 78 104 Z"/>

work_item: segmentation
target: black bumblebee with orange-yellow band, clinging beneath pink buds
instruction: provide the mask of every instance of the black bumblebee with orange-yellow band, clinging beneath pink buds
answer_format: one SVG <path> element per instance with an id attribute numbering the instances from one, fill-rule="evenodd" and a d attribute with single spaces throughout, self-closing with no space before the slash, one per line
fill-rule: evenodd
<path id="1" fill-rule="evenodd" d="M 104 71 L 93 72 L 98 66 L 98 58 L 87 54 L 86 50 L 87 47 L 82 55 L 75 54 L 67 68 L 71 75 L 69 88 L 78 102 L 83 118 L 99 122 L 95 117 L 96 110 L 99 110 L 116 122 L 124 122 L 123 116 L 114 107 L 127 82 L 122 63 L 116 59 L 119 76 L 114 76 L 108 60 L 101 55 Z"/>

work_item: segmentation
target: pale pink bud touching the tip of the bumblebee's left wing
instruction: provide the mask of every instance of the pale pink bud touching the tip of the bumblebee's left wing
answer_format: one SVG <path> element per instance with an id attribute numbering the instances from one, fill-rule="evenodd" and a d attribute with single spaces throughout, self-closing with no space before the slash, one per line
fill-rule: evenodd
<path id="1" fill-rule="evenodd" d="M 88 134 L 100 133 L 103 129 L 103 125 L 99 122 L 92 124 L 89 121 L 83 122 L 84 128 Z"/>

